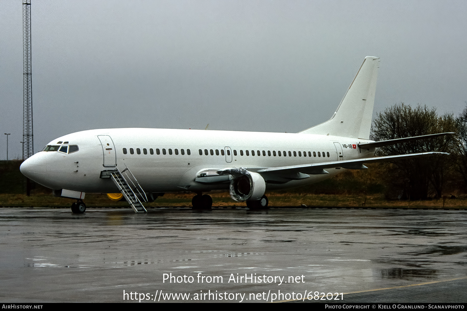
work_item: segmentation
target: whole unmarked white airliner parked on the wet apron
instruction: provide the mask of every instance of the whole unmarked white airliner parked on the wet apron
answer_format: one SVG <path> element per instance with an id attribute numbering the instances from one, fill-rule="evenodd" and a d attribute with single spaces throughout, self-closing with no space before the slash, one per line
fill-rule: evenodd
<path id="1" fill-rule="evenodd" d="M 121 128 L 80 131 L 52 140 L 24 161 L 21 173 L 77 199 L 85 193 L 123 198 L 135 212 L 142 200 L 165 192 L 193 192 L 194 208 L 210 208 L 203 192 L 228 190 L 251 209 L 265 208 L 265 191 L 298 187 L 364 163 L 421 157 L 424 152 L 374 157 L 375 148 L 448 133 L 375 142 L 369 140 L 379 58 L 367 56 L 328 121 L 298 133 Z"/>

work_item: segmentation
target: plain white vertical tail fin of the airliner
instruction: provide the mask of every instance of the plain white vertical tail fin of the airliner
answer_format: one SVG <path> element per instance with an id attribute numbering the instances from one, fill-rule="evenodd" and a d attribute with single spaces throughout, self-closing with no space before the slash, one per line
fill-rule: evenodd
<path id="1" fill-rule="evenodd" d="M 368 139 L 375 103 L 378 68 L 378 57 L 365 57 L 333 116 L 328 121 L 310 127 L 301 133 Z"/>

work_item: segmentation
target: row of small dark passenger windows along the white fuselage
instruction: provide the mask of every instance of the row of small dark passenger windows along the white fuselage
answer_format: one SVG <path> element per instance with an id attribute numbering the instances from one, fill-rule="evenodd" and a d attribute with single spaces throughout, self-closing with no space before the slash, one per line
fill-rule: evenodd
<path id="1" fill-rule="evenodd" d="M 129 149 L 130 149 L 130 154 L 134 154 L 134 149 L 133 149 L 133 148 L 129 148 Z M 172 151 L 172 149 L 169 148 L 169 149 L 168 149 L 168 152 L 169 152 L 169 155 L 172 155 L 173 153 L 175 153 L 175 155 L 178 155 L 178 154 L 179 154 L 178 149 L 174 149 L 174 150 Z M 230 150 L 227 149 L 226 152 L 227 152 L 227 155 L 230 156 Z M 255 150 L 252 150 L 252 151 L 251 151 L 251 155 L 252 155 L 252 156 L 255 156 L 255 155 L 261 156 L 261 154 L 262 154 L 262 155 L 265 157 L 265 156 L 266 156 L 266 153 L 268 154 L 269 157 L 270 157 L 271 155 L 274 156 L 274 157 L 276 157 L 276 156 L 279 156 L 279 157 L 282 157 L 282 156 L 287 157 L 287 154 L 289 155 L 289 157 L 291 157 L 292 154 L 293 154 L 294 157 L 297 157 L 297 154 L 298 154 L 299 157 L 301 157 L 302 154 L 303 154 L 304 157 L 307 156 L 307 152 L 306 152 L 306 151 L 304 151 L 303 153 L 302 153 L 301 151 L 299 151 L 299 152 L 297 152 L 297 151 L 289 151 L 289 152 L 287 152 L 287 151 L 283 151 L 283 152 L 277 151 L 277 152 L 276 152 L 276 151 L 274 150 L 272 153 L 271 153 L 269 150 L 268 150 L 267 152 L 264 151 L 264 150 L 263 150 L 262 152 L 259 151 L 259 150 L 257 150 L 256 152 L 255 152 Z M 127 154 L 127 148 L 123 148 L 123 154 Z M 141 149 L 140 149 L 140 148 L 136 148 L 136 154 L 141 154 Z M 146 148 L 143 148 L 143 154 L 148 154 L 148 150 L 147 150 Z M 149 148 L 149 154 L 154 154 L 154 149 Z M 161 151 L 160 151 L 159 148 L 156 148 L 156 154 L 161 154 Z M 162 149 L 162 154 L 167 154 L 167 150 L 166 150 L 165 148 Z M 185 154 L 185 150 L 184 150 L 184 149 L 180 149 L 180 154 L 181 154 L 181 155 L 184 155 L 184 154 Z M 190 149 L 186 149 L 186 154 L 187 154 L 187 155 L 191 155 Z M 224 152 L 224 149 L 220 149 L 220 152 L 219 152 L 219 149 L 215 149 L 215 150 L 210 149 L 209 151 L 208 151 L 207 149 L 205 149 L 205 150 L 204 150 L 204 154 L 205 154 L 205 155 L 210 155 L 210 154 L 211 154 L 211 155 L 214 155 L 214 154 L 215 154 L 215 155 L 219 155 L 219 154 L 220 154 L 220 155 L 226 155 L 226 153 Z M 199 155 L 203 155 L 203 150 L 202 150 L 202 149 L 199 149 Z M 234 155 L 234 156 L 237 155 L 237 151 L 236 151 L 236 150 L 233 150 L 233 155 Z M 249 150 L 245 150 L 245 152 L 243 152 L 243 150 L 240 150 L 240 155 L 241 155 L 241 156 L 243 156 L 243 155 L 249 156 L 249 155 L 250 155 L 250 151 L 249 151 Z M 318 155 L 318 157 L 321 157 L 321 156 L 323 156 L 323 157 L 328 157 L 328 158 L 330 157 L 329 152 L 324 152 L 324 151 L 323 151 L 323 152 L 319 152 L 319 151 L 318 151 L 318 152 L 315 152 L 315 151 L 313 151 L 313 157 L 316 157 L 317 155 Z M 311 151 L 308 151 L 308 157 L 311 157 Z"/>

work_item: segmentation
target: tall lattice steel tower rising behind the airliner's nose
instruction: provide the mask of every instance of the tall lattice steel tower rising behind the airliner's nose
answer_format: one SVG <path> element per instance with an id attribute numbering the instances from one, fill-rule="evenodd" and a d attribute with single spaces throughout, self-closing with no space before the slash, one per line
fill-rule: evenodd
<path id="1" fill-rule="evenodd" d="M 31 1 L 23 2 L 23 158 L 34 154 L 32 132 Z"/>

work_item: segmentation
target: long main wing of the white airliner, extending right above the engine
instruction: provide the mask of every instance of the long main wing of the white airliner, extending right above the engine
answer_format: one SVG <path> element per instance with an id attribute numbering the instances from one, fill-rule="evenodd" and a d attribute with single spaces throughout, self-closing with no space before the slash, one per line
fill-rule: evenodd
<path id="1" fill-rule="evenodd" d="M 374 157 L 374 158 L 364 158 L 364 159 L 353 159 L 353 160 L 342 160 L 342 161 L 331 161 L 331 162 L 321 162 L 313 164 L 300 164 L 300 165 L 291 165 L 291 166 L 280 166 L 280 167 L 269 167 L 258 170 L 260 174 L 264 173 L 304 173 L 304 174 L 327 174 L 329 172 L 325 171 L 327 168 L 343 167 L 353 170 L 365 169 L 368 168 L 364 166 L 364 163 L 373 163 L 373 162 L 390 162 L 399 159 L 409 159 L 409 158 L 418 158 L 425 156 L 435 156 L 435 155 L 447 155 L 446 152 L 421 152 L 421 153 L 412 153 L 412 154 L 401 154 L 395 156 L 386 156 L 386 157 Z"/>

